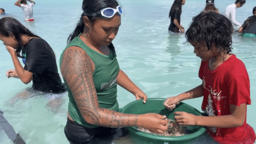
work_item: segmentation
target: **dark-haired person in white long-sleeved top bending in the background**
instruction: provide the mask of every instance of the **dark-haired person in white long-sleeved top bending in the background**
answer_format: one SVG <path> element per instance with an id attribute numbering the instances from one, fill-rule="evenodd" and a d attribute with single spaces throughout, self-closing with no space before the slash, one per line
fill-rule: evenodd
<path id="1" fill-rule="evenodd" d="M 233 25 L 236 27 L 241 27 L 242 24 L 236 21 L 236 9 L 242 7 L 245 4 L 246 0 L 236 0 L 234 4 L 227 6 L 224 11 L 224 16 L 226 16 Z"/>

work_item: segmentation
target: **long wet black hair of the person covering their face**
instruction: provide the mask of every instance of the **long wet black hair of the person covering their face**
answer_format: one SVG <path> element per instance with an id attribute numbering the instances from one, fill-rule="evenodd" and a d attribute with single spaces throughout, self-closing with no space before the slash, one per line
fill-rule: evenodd
<path id="1" fill-rule="evenodd" d="M 5 37 L 9 37 L 10 34 L 13 34 L 15 36 L 15 39 L 19 42 L 18 48 L 16 50 L 16 55 L 19 58 L 25 58 L 20 55 L 20 52 L 22 50 L 21 35 L 40 38 L 39 36 L 33 34 L 29 29 L 27 29 L 24 25 L 22 25 L 17 19 L 13 17 L 3 17 L 0 19 L 0 34 Z"/>

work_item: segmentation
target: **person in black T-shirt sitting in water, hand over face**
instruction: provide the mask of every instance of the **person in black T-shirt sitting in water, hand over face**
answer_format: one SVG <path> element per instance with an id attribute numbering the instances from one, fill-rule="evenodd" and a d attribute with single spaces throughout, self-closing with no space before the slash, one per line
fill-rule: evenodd
<path id="1" fill-rule="evenodd" d="M 35 91 L 54 94 L 66 91 L 58 73 L 55 54 L 45 40 L 34 35 L 12 17 L 0 19 L 0 40 L 11 54 L 15 67 L 8 70 L 6 76 L 19 78 L 25 84 L 33 81 L 32 88 L 17 97 L 27 98 Z M 18 57 L 23 58 L 24 68 Z"/>

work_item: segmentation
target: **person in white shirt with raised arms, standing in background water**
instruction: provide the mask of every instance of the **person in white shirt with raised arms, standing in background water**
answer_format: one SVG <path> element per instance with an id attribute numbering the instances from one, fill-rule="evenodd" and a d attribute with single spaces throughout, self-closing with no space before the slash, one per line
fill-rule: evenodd
<path id="1" fill-rule="evenodd" d="M 31 3 L 27 4 L 27 1 Z M 15 5 L 21 7 L 21 9 L 24 11 L 25 21 L 34 21 L 33 6 L 35 4 L 36 3 L 32 0 L 18 0 L 15 2 Z"/>

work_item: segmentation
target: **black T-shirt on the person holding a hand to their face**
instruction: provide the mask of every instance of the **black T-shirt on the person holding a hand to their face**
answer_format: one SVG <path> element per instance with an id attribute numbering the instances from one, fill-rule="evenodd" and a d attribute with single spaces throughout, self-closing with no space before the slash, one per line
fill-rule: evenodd
<path id="1" fill-rule="evenodd" d="M 61 82 L 55 54 L 50 45 L 41 38 L 31 39 L 22 48 L 24 70 L 33 73 L 35 90 L 46 93 L 62 93 L 66 86 Z"/>

